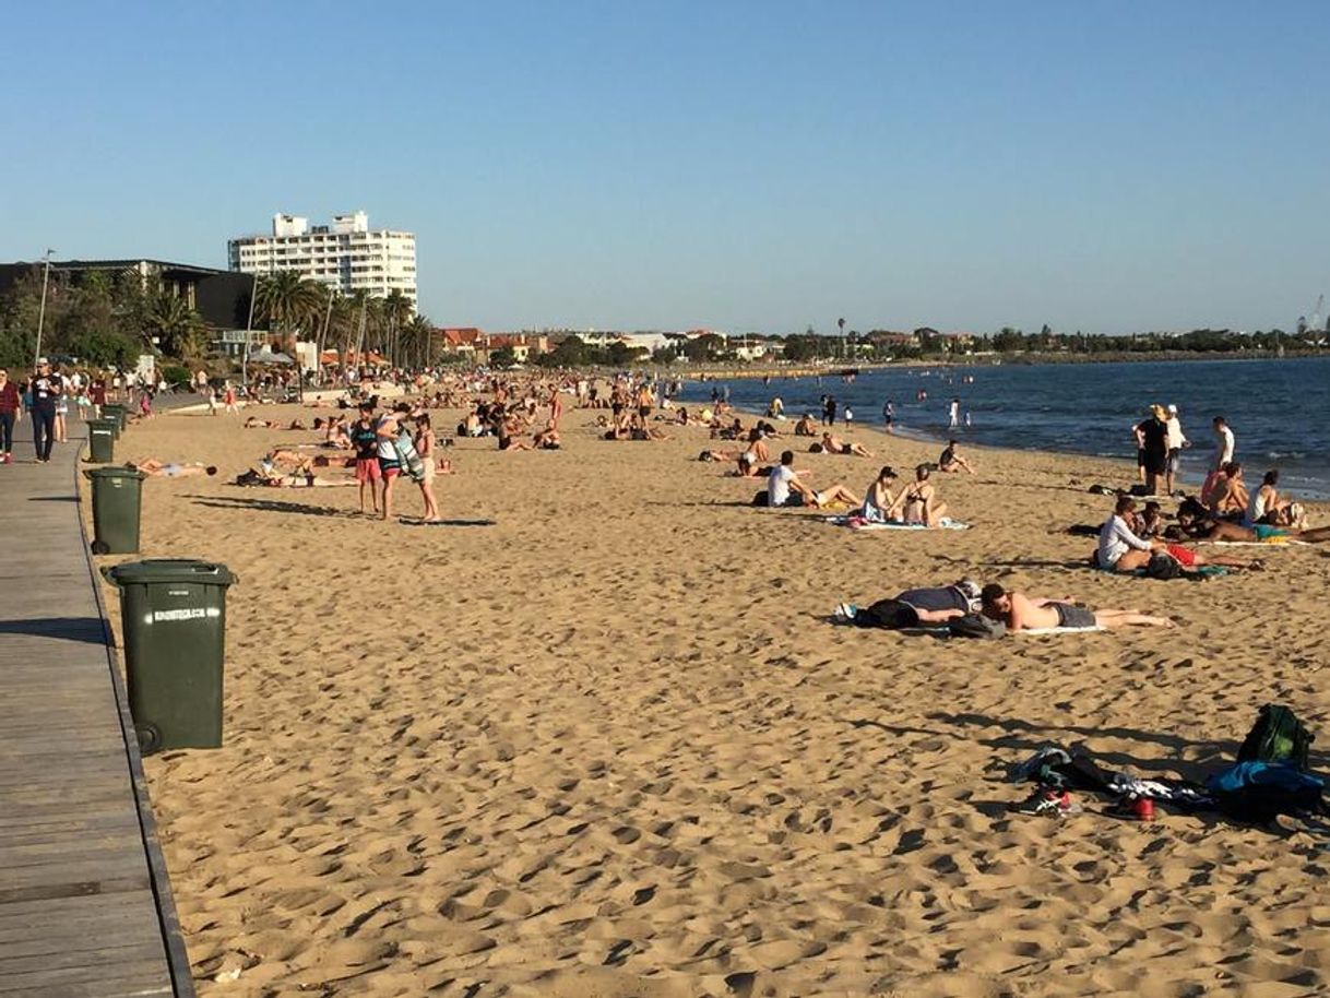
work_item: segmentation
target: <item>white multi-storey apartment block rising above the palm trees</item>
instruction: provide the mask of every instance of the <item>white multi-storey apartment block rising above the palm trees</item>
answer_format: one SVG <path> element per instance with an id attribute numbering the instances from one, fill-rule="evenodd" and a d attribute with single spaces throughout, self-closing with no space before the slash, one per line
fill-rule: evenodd
<path id="1" fill-rule="evenodd" d="M 291 214 L 273 216 L 271 236 L 241 236 L 227 242 L 231 270 L 271 274 L 295 270 L 342 294 L 368 291 L 387 298 L 400 291 L 416 307 L 415 234 L 370 230 L 364 212 L 332 216 L 331 225 L 310 225 Z"/>

